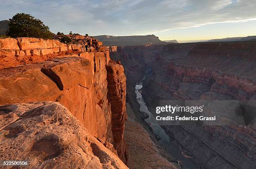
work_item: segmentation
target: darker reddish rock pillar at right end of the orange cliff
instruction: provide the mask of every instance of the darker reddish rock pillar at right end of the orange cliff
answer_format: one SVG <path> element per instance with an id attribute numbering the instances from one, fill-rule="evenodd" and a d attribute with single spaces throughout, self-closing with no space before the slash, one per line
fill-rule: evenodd
<path id="1" fill-rule="evenodd" d="M 126 78 L 123 66 L 111 61 L 107 66 L 108 99 L 111 103 L 114 146 L 118 149 L 120 159 L 125 161 L 126 144 L 124 141 L 124 127 L 127 120 L 125 96 Z"/>

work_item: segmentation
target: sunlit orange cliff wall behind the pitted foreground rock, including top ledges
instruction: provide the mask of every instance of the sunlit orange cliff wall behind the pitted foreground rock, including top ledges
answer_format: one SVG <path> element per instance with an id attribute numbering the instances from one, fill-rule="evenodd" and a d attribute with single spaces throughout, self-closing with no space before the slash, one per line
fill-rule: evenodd
<path id="1" fill-rule="evenodd" d="M 58 40 L 0 39 L 0 105 L 59 102 L 126 162 L 123 66 L 94 42 L 95 48 L 84 52 L 80 44 Z"/>

